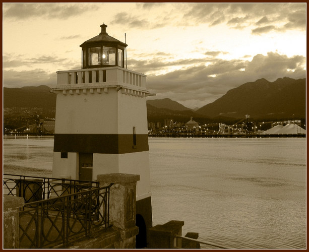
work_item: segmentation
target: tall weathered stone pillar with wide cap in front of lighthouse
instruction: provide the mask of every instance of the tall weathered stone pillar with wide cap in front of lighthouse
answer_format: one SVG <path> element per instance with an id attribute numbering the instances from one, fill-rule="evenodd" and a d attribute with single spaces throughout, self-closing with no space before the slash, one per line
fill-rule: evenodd
<path id="1" fill-rule="evenodd" d="M 136 222 L 136 182 L 140 175 L 109 173 L 97 175 L 100 186 L 110 183 L 109 224 L 120 229 L 121 239 L 118 247 L 135 248 L 135 236 L 138 234 Z"/>

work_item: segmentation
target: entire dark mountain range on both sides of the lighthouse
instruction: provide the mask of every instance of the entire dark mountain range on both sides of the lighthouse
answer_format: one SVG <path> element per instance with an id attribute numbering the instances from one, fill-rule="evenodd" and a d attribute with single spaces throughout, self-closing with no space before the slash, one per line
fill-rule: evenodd
<path id="1" fill-rule="evenodd" d="M 147 100 L 149 122 L 164 119 L 187 122 L 193 116 L 200 123 L 232 122 L 249 114 L 254 119 L 305 118 L 305 79 L 259 79 L 229 90 L 199 109 L 190 109 L 169 98 Z M 47 86 L 4 88 L 4 108 L 54 108 L 56 95 Z M 7 113 L 8 115 L 8 113 Z"/>

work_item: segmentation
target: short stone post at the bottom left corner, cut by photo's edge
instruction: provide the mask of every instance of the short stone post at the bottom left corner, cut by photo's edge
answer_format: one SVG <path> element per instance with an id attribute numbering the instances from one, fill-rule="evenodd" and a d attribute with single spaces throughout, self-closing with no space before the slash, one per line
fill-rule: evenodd
<path id="1" fill-rule="evenodd" d="M 3 232 L 4 248 L 19 248 L 19 208 L 25 205 L 24 199 L 4 195 L 3 198 Z"/>

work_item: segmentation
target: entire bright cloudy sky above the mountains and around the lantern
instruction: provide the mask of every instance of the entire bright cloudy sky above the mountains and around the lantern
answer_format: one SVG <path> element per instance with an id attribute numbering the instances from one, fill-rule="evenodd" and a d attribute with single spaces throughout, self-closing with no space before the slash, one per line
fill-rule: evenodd
<path id="1" fill-rule="evenodd" d="M 3 86 L 55 87 L 103 23 L 126 33 L 148 99 L 196 108 L 246 82 L 306 76 L 305 3 L 3 3 Z"/>

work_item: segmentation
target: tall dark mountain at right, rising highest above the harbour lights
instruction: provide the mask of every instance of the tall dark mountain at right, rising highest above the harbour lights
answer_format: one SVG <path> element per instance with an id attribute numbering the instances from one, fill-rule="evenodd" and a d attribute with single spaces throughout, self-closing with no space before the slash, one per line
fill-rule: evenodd
<path id="1" fill-rule="evenodd" d="M 305 79 L 262 78 L 230 89 L 225 95 L 196 111 L 205 116 L 305 117 Z"/>

